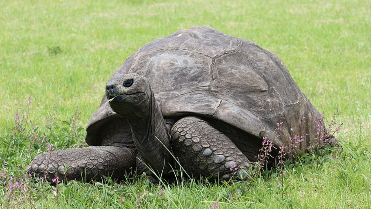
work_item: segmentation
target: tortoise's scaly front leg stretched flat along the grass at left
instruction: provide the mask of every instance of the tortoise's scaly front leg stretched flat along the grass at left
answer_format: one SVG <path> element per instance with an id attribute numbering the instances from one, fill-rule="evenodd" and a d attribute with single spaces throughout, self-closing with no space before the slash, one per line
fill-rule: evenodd
<path id="1" fill-rule="evenodd" d="M 99 180 L 102 176 L 112 179 L 125 179 L 135 167 L 134 151 L 121 147 L 90 146 L 78 149 L 57 150 L 37 155 L 26 172 L 32 176 L 52 181 L 60 180 Z"/>

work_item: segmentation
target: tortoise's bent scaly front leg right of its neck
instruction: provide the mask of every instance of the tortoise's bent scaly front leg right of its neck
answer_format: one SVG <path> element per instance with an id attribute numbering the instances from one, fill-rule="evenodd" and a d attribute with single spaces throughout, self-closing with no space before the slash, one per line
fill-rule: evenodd
<path id="1" fill-rule="evenodd" d="M 178 120 L 171 129 L 174 154 L 193 176 L 219 181 L 246 178 L 250 161 L 226 135 L 196 117 Z"/>

